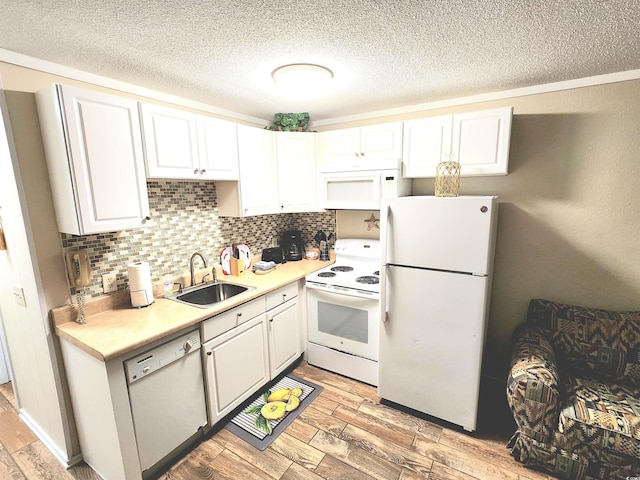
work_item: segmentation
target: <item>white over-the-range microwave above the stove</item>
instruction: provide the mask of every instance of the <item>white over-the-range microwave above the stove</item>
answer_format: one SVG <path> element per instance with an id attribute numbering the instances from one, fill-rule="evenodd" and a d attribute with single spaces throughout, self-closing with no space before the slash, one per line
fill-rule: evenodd
<path id="1" fill-rule="evenodd" d="M 381 198 L 411 194 L 400 169 L 324 172 L 320 180 L 320 206 L 328 210 L 379 210 Z"/>

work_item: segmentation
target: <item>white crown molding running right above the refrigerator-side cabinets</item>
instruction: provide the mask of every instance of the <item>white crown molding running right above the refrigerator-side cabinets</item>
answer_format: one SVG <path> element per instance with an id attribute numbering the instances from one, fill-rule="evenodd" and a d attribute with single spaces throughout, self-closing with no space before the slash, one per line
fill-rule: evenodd
<path id="1" fill-rule="evenodd" d="M 374 112 L 366 112 L 355 115 L 346 115 L 343 117 L 326 118 L 316 122 L 310 122 L 312 127 L 324 127 L 339 123 L 356 122 L 362 120 L 371 120 L 381 117 L 390 117 L 394 115 L 404 115 L 415 112 L 423 112 L 427 110 L 435 110 L 438 108 L 457 107 L 461 105 L 469 105 L 480 102 L 490 102 L 495 100 L 504 100 L 516 97 L 526 97 L 529 95 L 539 95 L 541 93 L 559 92 L 562 90 L 573 90 L 576 88 L 592 87 L 595 85 L 604 85 L 607 83 L 626 82 L 628 80 L 640 79 L 640 70 L 627 70 L 625 72 L 608 73 L 604 75 L 595 75 L 593 77 L 578 78 L 575 80 L 565 80 L 562 82 L 545 83 L 534 85 L 531 87 L 515 88 L 512 90 L 504 90 L 501 92 L 484 93 L 480 95 L 470 95 L 467 97 L 452 98 L 437 102 L 421 103 L 417 105 L 409 105 L 406 107 L 391 108 L 387 110 L 377 110 Z"/>

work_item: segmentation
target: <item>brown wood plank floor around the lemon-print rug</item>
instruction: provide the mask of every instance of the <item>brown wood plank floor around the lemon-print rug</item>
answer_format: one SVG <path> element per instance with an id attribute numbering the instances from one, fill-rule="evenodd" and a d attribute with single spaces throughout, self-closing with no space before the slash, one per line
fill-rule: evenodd
<path id="1" fill-rule="evenodd" d="M 324 391 L 265 451 L 222 429 L 161 480 L 549 480 L 509 455 L 505 435 L 469 434 L 382 405 L 376 389 L 303 362 L 294 373 Z M 489 422 L 490 423 L 490 422 Z M 488 430 L 488 429 L 486 429 Z M 0 479 L 99 480 L 85 464 L 65 470 L 0 386 Z"/>

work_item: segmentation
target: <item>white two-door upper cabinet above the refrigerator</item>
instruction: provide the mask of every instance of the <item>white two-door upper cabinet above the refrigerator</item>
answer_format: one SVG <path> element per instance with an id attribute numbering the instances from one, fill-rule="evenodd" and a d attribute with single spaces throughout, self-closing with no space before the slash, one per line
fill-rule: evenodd
<path id="1" fill-rule="evenodd" d="M 455 160 L 462 176 L 506 175 L 513 108 L 404 122 L 403 175 L 432 178 L 438 163 Z"/>

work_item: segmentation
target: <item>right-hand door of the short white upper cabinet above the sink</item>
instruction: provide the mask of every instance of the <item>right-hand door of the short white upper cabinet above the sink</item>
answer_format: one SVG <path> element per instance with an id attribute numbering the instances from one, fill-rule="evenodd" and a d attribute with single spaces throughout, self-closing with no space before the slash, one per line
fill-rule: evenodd
<path id="1" fill-rule="evenodd" d="M 198 115 L 200 178 L 238 180 L 238 135 L 236 124 Z"/>

